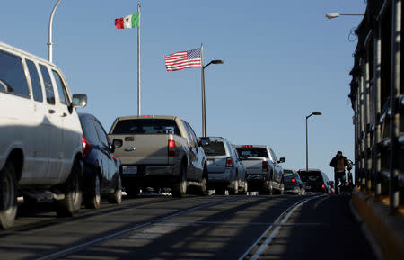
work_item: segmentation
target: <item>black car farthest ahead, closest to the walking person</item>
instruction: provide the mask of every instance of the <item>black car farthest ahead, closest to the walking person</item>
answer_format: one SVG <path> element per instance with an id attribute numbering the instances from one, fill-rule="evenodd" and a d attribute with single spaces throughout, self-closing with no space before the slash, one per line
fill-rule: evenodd
<path id="1" fill-rule="evenodd" d="M 299 170 L 307 193 L 331 193 L 329 177 L 319 169 Z"/>

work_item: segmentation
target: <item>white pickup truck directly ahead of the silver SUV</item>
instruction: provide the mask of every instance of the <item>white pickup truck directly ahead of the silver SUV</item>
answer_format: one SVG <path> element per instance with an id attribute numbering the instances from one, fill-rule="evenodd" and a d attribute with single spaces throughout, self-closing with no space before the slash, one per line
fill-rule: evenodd
<path id="1" fill-rule="evenodd" d="M 272 194 L 274 190 L 285 193 L 282 181 L 284 170 L 280 163 L 285 157 L 279 158 L 267 145 L 235 146 L 242 164 L 247 168 L 247 182 L 250 191 L 259 190 L 259 193 Z"/>

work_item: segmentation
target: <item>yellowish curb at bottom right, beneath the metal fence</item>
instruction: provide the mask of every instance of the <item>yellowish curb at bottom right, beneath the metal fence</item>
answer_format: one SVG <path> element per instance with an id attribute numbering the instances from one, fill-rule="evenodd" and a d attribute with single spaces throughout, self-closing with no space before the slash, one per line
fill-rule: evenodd
<path id="1" fill-rule="evenodd" d="M 391 215 L 389 206 L 375 202 L 374 197 L 357 189 L 352 192 L 352 203 L 382 249 L 385 259 L 402 260 L 404 256 L 404 216 Z"/>

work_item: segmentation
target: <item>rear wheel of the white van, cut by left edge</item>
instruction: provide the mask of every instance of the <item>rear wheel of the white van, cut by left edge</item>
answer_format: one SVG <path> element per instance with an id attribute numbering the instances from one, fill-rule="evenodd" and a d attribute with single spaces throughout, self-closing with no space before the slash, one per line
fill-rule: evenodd
<path id="1" fill-rule="evenodd" d="M 0 227 L 8 229 L 17 214 L 17 180 L 11 163 L 6 163 L 0 171 L 0 188 Z"/>

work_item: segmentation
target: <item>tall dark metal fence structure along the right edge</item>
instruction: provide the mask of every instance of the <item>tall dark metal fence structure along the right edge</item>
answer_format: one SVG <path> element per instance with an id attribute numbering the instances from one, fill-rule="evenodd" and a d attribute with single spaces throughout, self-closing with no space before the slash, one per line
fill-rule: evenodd
<path id="1" fill-rule="evenodd" d="M 369 1 L 356 29 L 351 71 L 356 185 L 391 211 L 404 203 L 404 87 L 401 85 L 402 1 Z"/>

